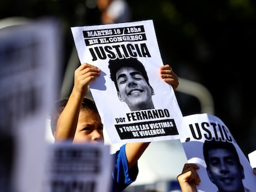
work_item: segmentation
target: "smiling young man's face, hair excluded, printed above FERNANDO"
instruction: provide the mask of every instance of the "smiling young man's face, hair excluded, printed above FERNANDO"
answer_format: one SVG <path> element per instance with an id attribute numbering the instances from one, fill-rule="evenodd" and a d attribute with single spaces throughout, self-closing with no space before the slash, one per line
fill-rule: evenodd
<path id="1" fill-rule="evenodd" d="M 147 108 L 151 103 L 153 89 L 142 73 L 132 67 L 122 67 L 116 73 L 117 92 L 120 101 L 126 102 L 131 111 Z"/>

